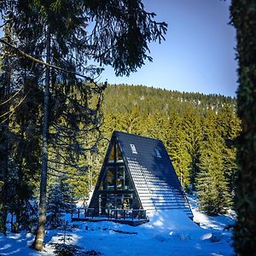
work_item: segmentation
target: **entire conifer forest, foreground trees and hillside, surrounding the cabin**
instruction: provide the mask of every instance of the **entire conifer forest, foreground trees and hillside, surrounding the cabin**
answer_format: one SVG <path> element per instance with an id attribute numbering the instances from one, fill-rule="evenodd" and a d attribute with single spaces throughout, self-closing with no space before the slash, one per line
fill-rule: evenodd
<path id="1" fill-rule="evenodd" d="M 99 82 L 105 66 L 137 72 L 153 61 L 149 44 L 165 40 L 166 22 L 141 0 L 0 1 L 1 250 L 3 237 L 26 232 L 42 252 L 46 230 L 64 230 L 56 255 L 102 255 L 67 246 L 65 216 L 88 207 L 113 131 L 124 131 L 162 141 L 199 211 L 235 212 L 223 240 L 255 255 L 255 12 L 255 1 L 231 1 L 239 88 L 230 97 Z"/>

